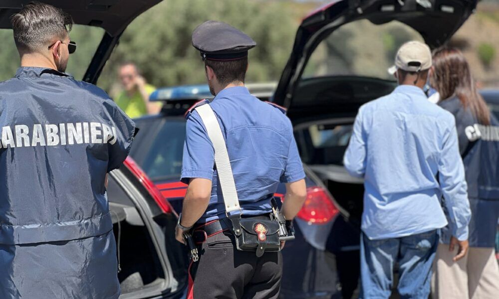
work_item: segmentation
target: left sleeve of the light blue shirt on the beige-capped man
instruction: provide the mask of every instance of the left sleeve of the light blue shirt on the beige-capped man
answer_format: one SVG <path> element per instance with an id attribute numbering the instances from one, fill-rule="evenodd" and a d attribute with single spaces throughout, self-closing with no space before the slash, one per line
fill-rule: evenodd
<path id="1" fill-rule="evenodd" d="M 343 157 L 343 165 L 351 176 L 364 177 L 366 172 L 366 134 L 362 125 L 362 107 L 355 118 L 352 136 Z"/>

